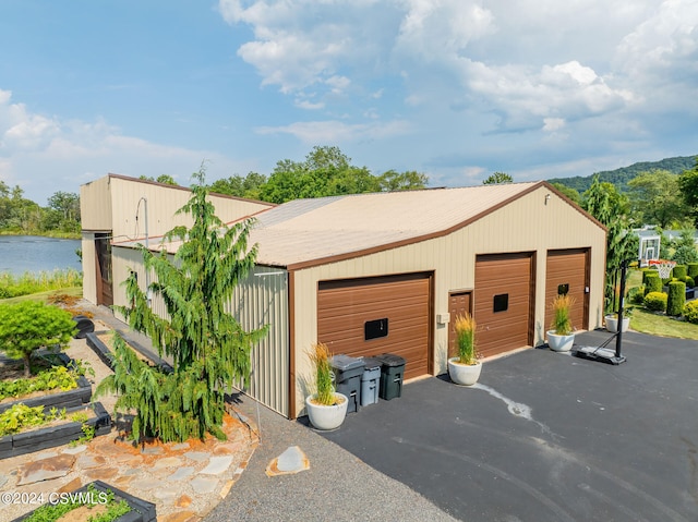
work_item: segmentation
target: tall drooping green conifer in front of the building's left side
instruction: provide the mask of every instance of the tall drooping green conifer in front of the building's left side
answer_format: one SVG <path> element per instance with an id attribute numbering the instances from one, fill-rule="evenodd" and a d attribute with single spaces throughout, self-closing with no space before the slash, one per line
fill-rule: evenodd
<path id="1" fill-rule="evenodd" d="M 135 275 L 124 281 L 130 306 L 117 306 L 135 330 L 146 333 L 173 371 L 165 373 L 140 361 L 122 339 L 115 342 L 115 374 L 97 393 L 119 394 L 117 411 L 135 410 L 132 435 L 163 441 L 203 439 L 207 433 L 225 439 L 221 429 L 225 392 L 248 384 L 250 350 L 266 328 L 246 332 L 226 312 L 236 284 L 254 266 L 256 245 L 248 247 L 252 222 L 226 227 L 207 199 L 202 169 L 194 174 L 190 201 L 178 210 L 193 226 L 176 227 L 165 241 L 181 241 L 171 259 L 141 246 L 145 269 L 154 274 L 153 295 L 161 296 L 167 319 L 153 313 Z"/>

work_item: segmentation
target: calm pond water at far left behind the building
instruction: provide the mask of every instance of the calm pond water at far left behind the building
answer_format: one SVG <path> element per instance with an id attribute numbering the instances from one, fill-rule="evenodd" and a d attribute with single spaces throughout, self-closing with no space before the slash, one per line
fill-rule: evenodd
<path id="1" fill-rule="evenodd" d="M 39 235 L 0 235 L 0 272 L 21 276 L 25 271 L 83 269 L 76 250 L 80 240 L 60 240 Z"/>

